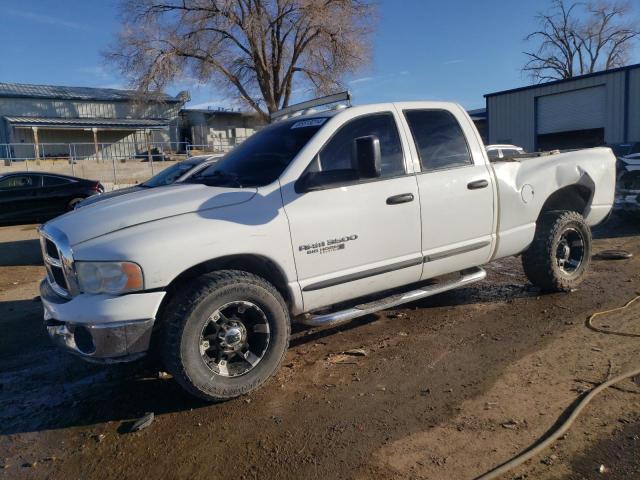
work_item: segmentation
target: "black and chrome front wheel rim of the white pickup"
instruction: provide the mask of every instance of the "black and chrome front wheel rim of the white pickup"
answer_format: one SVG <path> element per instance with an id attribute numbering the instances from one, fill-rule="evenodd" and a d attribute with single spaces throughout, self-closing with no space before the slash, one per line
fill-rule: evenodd
<path id="1" fill-rule="evenodd" d="M 269 322 L 260 307 L 246 301 L 229 302 L 205 323 L 200 355 L 216 375 L 238 377 L 260 363 L 269 339 Z"/>

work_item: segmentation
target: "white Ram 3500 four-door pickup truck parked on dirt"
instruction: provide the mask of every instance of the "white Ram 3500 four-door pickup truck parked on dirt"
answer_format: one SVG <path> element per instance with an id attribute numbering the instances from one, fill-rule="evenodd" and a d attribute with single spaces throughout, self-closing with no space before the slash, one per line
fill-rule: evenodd
<path id="1" fill-rule="evenodd" d="M 276 372 L 292 322 L 434 295 L 512 255 L 543 290 L 584 278 L 614 200 L 608 148 L 490 163 L 456 104 L 294 110 L 187 183 L 41 227 L 51 338 L 93 361 L 157 350 L 224 400 Z"/>

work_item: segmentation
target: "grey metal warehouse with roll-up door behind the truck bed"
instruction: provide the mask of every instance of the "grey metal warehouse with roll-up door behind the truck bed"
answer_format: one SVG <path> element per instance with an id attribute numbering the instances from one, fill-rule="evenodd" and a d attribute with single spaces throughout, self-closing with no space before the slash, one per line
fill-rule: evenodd
<path id="1" fill-rule="evenodd" d="M 640 141 L 640 64 L 485 98 L 489 143 L 536 151 Z"/>

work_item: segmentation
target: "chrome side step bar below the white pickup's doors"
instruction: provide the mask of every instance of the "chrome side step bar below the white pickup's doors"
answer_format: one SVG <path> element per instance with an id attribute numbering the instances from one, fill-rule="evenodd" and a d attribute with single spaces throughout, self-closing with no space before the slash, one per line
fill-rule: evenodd
<path id="1" fill-rule="evenodd" d="M 356 305 L 353 308 L 346 310 L 340 310 L 337 312 L 326 313 L 322 315 L 307 315 L 300 320 L 300 323 L 309 325 L 312 327 L 319 327 L 324 325 L 334 325 L 337 323 L 347 322 L 354 318 L 362 317 L 363 315 L 369 315 L 370 313 L 379 312 L 380 310 L 386 310 L 387 308 L 393 308 L 403 303 L 413 302 L 421 298 L 431 297 L 438 293 L 453 290 L 454 288 L 463 287 L 470 283 L 479 282 L 487 276 L 487 272 L 480 268 L 471 268 L 460 272 L 460 278 L 457 280 L 449 280 L 443 283 L 429 285 L 426 287 L 412 290 L 410 292 L 398 293 L 387 298 L 375 300 L 373 302 L 363 303 Z"/>

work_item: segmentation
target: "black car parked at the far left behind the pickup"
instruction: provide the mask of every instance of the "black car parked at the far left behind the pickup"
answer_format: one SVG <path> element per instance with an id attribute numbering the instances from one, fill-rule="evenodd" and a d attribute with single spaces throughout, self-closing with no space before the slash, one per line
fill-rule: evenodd
<path id="1" fill-rule="evenodd" d="M 0 223 L 42 222 L 104 192 L 96 180 L 47 172 L 0 174 Z"/>

